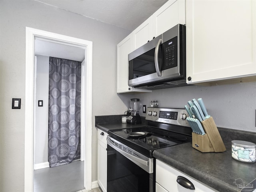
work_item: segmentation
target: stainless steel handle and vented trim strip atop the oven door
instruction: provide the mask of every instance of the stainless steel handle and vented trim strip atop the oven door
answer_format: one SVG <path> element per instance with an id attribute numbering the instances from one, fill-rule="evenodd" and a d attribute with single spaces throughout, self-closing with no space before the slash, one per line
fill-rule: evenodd
<path id="1" fill-rule="evenodd" d="M 107 136 L 107 143 L 120 154 L 134 162 L 136 165 L 144 169 L 148 173 L 153 173 L 153 158 L 148 158 L 132 148 L 122 144 L 121 142 Z"/>

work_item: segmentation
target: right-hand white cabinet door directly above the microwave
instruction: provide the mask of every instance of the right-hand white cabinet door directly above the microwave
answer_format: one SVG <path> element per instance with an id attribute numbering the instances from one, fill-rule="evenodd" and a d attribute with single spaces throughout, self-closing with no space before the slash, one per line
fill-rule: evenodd
<path id="1" fill-rule="evenodd" d="M 185 0 L 169 0 L 153 14 L 153 36 L 177 24 L 186 24 Z"/>

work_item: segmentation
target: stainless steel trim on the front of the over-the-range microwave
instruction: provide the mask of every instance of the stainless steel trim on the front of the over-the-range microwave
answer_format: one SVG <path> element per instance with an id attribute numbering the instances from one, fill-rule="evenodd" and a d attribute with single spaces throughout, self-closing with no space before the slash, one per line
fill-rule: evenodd
<path id="1" fill-rule="evenodd" d="M 128 60 L 132 60 L 136 58 L 137 56 L 142 55 L 143 53 L 147 52 L 148 50 L 151 50 L 155 48 L 156 43 L 159 42 L 160 39 L 162 39 L 162 43 L 178 36 L 178 45 L 180 45 L 180 30 L 179 25 L 174 26 L 170 30 L 164 32 L 160 36 L 157 36 L 147 44 L 141 46 L 140 48 L 134 50 L 132 53 L 128 54 Z M 163 50 L 164 51 L 164 50 Z M 178 48 L 177 50 L 177 60 L 178 60 L 178 66 L 170 69 L 166 69 L 162 71 L 162 74 L 158 76 L 158 73 L 148 74 L 142 77 L 134 78 L 131 80 L 128 80 L 129 86 L 138 86 L 140 84 L 145 84 L 149 82 L 155 82 L 155 81 L 161 81 L 161 80 L 168 80 L 170 79 L 170 82 L 172 82 L 171 79 L 179 77 L 180 76 L 180 50 Z M 155 64 L 156 65 L 156 64 Z M 175 81 L 175 80 L 174 80 Z M 184 83 L 186 81 L 178 81 L 174 82 L 175 84 Z"/>

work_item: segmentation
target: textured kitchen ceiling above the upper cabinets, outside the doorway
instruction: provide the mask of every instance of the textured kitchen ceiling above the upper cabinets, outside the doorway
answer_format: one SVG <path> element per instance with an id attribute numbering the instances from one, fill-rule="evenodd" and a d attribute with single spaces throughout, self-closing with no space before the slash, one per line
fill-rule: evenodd
<path id="1" fill-rule="evenodd" d="M 35 0 L 130 31 L 168 0 Z"/>

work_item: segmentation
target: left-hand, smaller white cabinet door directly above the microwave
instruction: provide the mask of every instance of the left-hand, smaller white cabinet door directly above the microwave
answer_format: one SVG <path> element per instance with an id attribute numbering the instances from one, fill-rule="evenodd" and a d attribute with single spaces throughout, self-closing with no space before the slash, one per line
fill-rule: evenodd
<path id="1" fill-rule="evenodd" d="M 148 41 L 153 38 L 153 28 L 152 28 L 152 16 L 144 21 L 138 28 L 132 32 L 134 47 L 133 50 L 136 50 L 140 46 L 146 44 Z"/>

